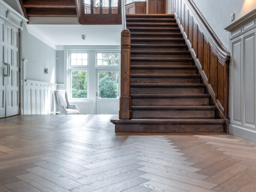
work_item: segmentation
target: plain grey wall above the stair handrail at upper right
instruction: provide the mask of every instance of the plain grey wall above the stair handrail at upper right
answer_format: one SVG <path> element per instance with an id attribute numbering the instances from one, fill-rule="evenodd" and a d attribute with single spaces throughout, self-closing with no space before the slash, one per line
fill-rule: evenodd
<path id="1" fill-rule="evenodd" d="M 234 21 L 230 15 L 235 13 L 235 20 L 256 8 L 255 0 L 192 0 L 221 43 L 230 49 L 229 32 L 224 28 Z"/>

